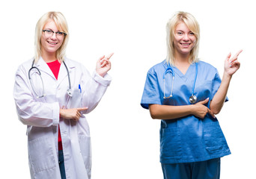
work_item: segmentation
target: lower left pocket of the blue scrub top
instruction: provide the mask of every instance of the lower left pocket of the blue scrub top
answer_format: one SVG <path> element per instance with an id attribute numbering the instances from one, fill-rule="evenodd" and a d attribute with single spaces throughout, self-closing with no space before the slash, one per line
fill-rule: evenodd
<path id="1" fill-rule="evenodd" d="M 160 131 L 161 156 L 177 159 L 182 155 L 180 128 L 162 128 Z"/>

